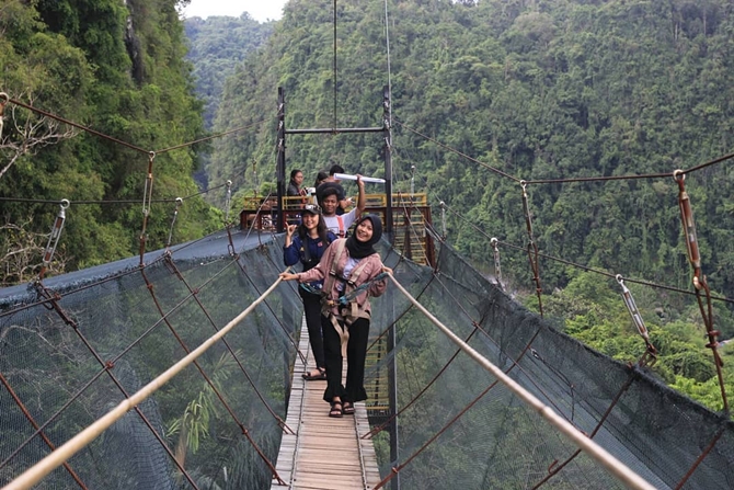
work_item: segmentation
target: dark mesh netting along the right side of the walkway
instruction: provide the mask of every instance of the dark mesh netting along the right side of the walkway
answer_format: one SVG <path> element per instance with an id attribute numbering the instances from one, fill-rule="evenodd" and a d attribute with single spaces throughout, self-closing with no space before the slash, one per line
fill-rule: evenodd
<path id="1" fill-rule="evenodd" d="M 383 257 L 398 261 L 394 253 Z M 734 488 L 734 424 L 725 417 L 554 330 L 449 247 L 441 247 L 435 274 L 408 261 L 397 271 L 444 324 L 655 488 L 677 488 L 712 444 L 681 488 Z M 402 489 L 624 488 L 584 453 L 572 457 L 575 445 L 457 354 L 401 296 L 375 299 L 372 311 L 374 335 L 385 338 L 395 324 L 394 353 L 369 371 L 383 377 L 397 363 L 395 460 L 388 430 L 374 436 L 383 477 L 399 468 Z M 382 424 L 386 418 L 374 419 Z"/>

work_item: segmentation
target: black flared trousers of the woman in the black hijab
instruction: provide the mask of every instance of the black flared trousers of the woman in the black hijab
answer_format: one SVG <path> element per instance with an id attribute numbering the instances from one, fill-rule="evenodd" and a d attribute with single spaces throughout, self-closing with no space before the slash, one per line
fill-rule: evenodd
<path id="1" fill-rule="evenodd" d="M 323 330 L 323 353 L 326 361 L 324 401 L 331 402 L 334 397 L 352 402 L 366 400 L 365 360 L 369 339 L 369 319 L 358 318 L 349 326 L 349 340 L 346 344 L 346 386 L 342 385 L 343 360 L 339 332 L 331 320 L 323 316 L 321 317 L 321 329 Z"/>

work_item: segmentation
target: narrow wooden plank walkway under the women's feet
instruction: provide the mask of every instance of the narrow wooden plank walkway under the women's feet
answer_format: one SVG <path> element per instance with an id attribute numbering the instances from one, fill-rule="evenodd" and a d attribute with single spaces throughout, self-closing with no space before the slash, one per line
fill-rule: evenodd
<path id="1" fill-rule="evenodd" d="M 296 434 L 284 434 L 276 470 L 286 486 L 273 480 L 272 490 L 371 489 L 380 482 L 380 471 L 369 432 L 365 403 L 355 403 L 354 417 L 329 417 L 323 401 L 325 380 L 306 381 L 301 375 L 314 369 L 306 320 L 301 324 L 299 350 L 307 365 L 296 360 L 286 424 Z M 346 362 L 345 362 L 346 363 Z M 346 364 L 344 366 L 346 374 Z"/>

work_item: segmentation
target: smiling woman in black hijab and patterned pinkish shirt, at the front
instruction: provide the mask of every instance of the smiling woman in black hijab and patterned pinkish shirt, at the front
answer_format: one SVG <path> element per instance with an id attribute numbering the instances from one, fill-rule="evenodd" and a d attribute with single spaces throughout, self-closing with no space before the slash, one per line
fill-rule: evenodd
<path id="1" fill-rule="evenodd" d="M 369 337 L 369 296 L 381 296 L 387 277 L 376 280 L 386 267 L 374 246 L 382 236 L 382 224 L 375 215 L 355 223 L 354 235 L 334 241 L 316 267 L 298 274 L 284 272 L 284 281 L 324 282 L 322 329 L 326 364 L 326 390 L 323 399 L 331 403 L 329 417 L 354 413 L 355 401 L 367 399 L 365 358 Z M 360 289 L 359 286 L 366 285 Z M 340 298 L 345 300 L 340 301 Z M 342 385 L 342 365 L 346 355 L 346 386 Z"/>

